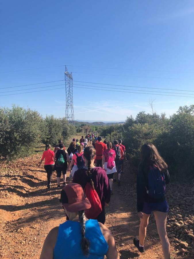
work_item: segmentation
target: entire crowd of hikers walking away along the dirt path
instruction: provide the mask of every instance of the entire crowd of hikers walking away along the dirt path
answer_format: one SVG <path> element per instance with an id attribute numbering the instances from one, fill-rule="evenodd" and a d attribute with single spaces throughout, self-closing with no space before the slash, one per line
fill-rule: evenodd
<path id="1" fill-rule="evenodd" d="M 47 235 L 41 259 L 59 258 L 119 258 L 114 237 L 104 226 L 105 206 L 113 194 L 114 182 L 121 186 L 126 148 L 122 140 L 102 142 L 92 132 L 80 140 L 73 138 L 65 148 L 59 140 L 54 151 L 48 144 L 43 153 L 47 172 L 47 188 L 57 173 L 57 188 L 63 184 L 60 202 L 66 221 Z M 90 143 L 89 143 L 90 142 Z M 66 174 L 70 182 L 66 183 Z M 72 180 L 72 182 L 71 182 Z M 141 162 L 137 173 L 137 214 L 140 218 L 139 239 L 133 243 L 144 252 L 144 240 L 151 212 L 154 213 L 157 231 L 165 259 L 170 259 L 170 243 L 166 233 L 168 203 L 165 185 L 170 181 L 168 166 L 152 143 L 141 148 Z"/>

